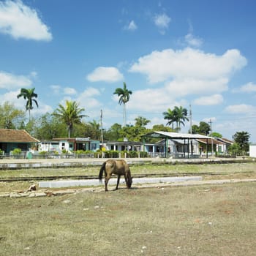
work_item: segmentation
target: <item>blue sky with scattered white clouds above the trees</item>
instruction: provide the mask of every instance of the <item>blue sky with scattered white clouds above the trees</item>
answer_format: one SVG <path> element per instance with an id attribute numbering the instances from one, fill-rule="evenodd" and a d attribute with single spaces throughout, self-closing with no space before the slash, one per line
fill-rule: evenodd
<path id="1" fill-rule="evenodd" d="M 211 121 L 232 138 L 256 143 L 256 2 L 254 0 L 0 1 L 0 100 L 35 87 L 39 108 L 65 99 L 86 109 L 85 121 L 122 124 L 113 92 L 127 83 L 127 124 L 192 106 L 192 124 Z M 189 123 L 182 128 L 188 132 Z"/>

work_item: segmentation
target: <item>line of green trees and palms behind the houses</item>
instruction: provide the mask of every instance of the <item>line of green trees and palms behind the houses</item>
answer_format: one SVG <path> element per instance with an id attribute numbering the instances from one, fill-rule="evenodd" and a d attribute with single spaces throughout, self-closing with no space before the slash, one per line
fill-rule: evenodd
<path id="1" fill-rule="evenodd" d="M 65 105 L 59 104 L 53 113 L 45 113 L 42 116 L 34 118 L 31 116 L 33 103 L 38 106 L 37 94 L 32 89 L 20 89 L 18 99 L 23 97 L 26 100 L 25 111 L 15 108 L 10 102 L 4 102 L 0 105 L 0 128 L 6 129 L 26 129 L 32 136 L 38 140 L 51 140 L 53 138 L 85 137 L 100 140 L 102 135 L 104 140 L 120 141 L 127 138 L 129 141 L 141 141 L 141 136 L 151 131 L 179 132 L 181 125 L 189 121 L 188 111 L 182 106 L 175 106 L 173 109 L 168 108 L 163 112 L 163 118 L 167 120 L 166 125 L 156 124 L 152 129 L 146 126 L 151 121 L 143 116 L 135 118 L 134 125 L 127 125 L 126 104 L 132 91 L 127 89 L 127 84 L 123 83 L 123 88 L 117 88 L 113 94 L 119 97 L 118 104 L 123 104 L 123 126 L 115 123 L 110 129 L 102 129 L 96 120 L 86 122 L 83 120 L 86 116 L 84 108 L 80 108 L 79 103 L 66 100 Z M 29 122 L 26 123 L 26 111 L 29 111 Z M 219 132 L 211 131 L 208 123 L 200 121 L 199 125 L 192 125 L 189 132 L 202 135 L 211 135 L 214 138 L 222 138 Z M 235 140 L 234 151 L 249 151 L 249 133 L 236 132 L 233 135 Z M 150 139 L 151 142 L 154 142 Z"/>

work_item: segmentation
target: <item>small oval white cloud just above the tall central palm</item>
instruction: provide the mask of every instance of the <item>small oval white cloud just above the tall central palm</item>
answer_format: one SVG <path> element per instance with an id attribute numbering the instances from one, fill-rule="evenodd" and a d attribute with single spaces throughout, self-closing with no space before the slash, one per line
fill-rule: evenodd
<path id="1" fill-rule="evenodd" d="M 123 79 L 124 76 L 116 67 L 97 67 L 91 74 L 87 75 L 87 80 L 90 82 L 114 83 Z"/>

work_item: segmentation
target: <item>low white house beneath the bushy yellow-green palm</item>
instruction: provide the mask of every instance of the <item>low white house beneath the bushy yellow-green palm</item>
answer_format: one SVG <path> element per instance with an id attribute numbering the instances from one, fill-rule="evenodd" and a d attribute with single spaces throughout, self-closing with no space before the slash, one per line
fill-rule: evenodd
<path id="1" fill-rule="evenodd" d="M 53 138 L 53 140 L 41 141 L 39 151 L 97 151 L 99 149 L 99 140 L 91 138 Z"/>

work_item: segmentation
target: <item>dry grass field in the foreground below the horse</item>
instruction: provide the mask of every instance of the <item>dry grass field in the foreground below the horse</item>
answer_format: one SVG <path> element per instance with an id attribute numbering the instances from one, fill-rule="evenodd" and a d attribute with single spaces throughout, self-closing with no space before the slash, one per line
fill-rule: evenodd
<path id="1" fill-rule="evenodd" d="M 256 184 L 0 198 L 0 255 L 255 255 Z"/>

